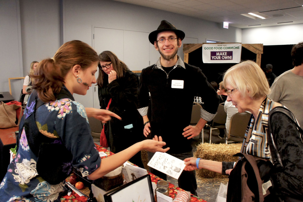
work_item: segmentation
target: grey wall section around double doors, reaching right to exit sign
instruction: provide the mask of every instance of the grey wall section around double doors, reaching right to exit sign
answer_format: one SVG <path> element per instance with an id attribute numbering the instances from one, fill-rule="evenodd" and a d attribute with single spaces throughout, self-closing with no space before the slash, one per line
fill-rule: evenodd
<path id="1" fill-rule="evenodd" d="M 92 46 L 92 27 L 150 33 L 158 28 L 163 19 L 184 31 L 186 37 L 198 38 L 198 43 L 204 43 L 206 38 L 241 42 L 241 29 L 238 28 L 224 29 L 223 24 L 220 23 L 108 0 L 64 0 L 63 41 L 78 39 Z M 151 64 L 155 62 L 150 61 Z M 87 92 L 86 96 L 74 96 L 85 106 L 92 106 L 92 94 L 93 88 Z"/>

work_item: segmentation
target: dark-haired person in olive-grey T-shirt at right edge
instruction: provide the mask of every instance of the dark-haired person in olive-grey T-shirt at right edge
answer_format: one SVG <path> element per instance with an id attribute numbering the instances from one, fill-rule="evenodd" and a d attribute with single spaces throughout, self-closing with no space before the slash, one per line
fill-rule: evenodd
<path id="1" fill-rule="evenodd" d="M 294 67 L 275 79 L 268 97 L 284 104 L 303 128 L 303 42 L 292 47 L 291 58 Z"/>

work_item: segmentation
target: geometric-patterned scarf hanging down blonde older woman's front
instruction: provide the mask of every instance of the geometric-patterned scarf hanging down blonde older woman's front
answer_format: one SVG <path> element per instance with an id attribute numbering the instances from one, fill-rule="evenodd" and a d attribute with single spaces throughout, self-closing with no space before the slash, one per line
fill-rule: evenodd
<path id="1" fill-rule="evenodd" d="M 262 159 L 270 159 L 269 146 L 267 144 L 268 113 L 275 104 L 269 98 L 265 98 L 260 106 L 257 118 L 251 118 L 247 126 L 241 152 Z"/>

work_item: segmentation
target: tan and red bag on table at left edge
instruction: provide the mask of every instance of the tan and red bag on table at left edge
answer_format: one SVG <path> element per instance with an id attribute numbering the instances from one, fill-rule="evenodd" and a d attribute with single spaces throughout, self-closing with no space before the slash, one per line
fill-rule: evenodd
<path id="1" fill-rule="evenodd" d="M 0 128 L 11 128 L 20 124 L 22 117 L 22 106 L 21 103 L 20 105 L 17 105 L 19 103 L 20 102 L 17 101 L 9 102 L 9 104 L 4 102 L 0 103 Z M 18 122 L 16 121 L 17 118 Z"/>

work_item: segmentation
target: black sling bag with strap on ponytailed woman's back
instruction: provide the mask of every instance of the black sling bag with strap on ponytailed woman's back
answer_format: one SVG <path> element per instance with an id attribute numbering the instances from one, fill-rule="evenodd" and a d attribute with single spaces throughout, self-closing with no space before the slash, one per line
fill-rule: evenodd
<path id="1" fill-rule="evenodd" d="M 72 153 L 62 144 L 61 138 L 49 138 L 39 132 L 35 122 L 35 112 L 45 103 L 38 99 L 36 91 L 32 94 L 28 103 L 35 102 L 34 111 L 27 118 L 25 118 L 26 115 L 22 117 L 28 145 L 38 157 L 36 164 L 38 175 L 50 184 L 58 184 L 72 172 L 70 169 Z M 32 101 L 33 99 L 35 101 Z M 22 127 L 19 130 L 22 130 Z M 55 140 L 58 140 L 58 143 L 54 143 Z"/>

